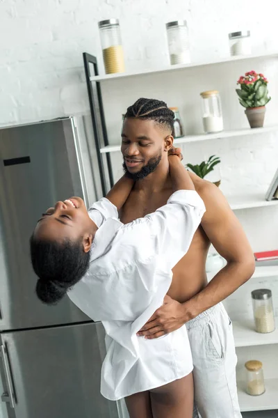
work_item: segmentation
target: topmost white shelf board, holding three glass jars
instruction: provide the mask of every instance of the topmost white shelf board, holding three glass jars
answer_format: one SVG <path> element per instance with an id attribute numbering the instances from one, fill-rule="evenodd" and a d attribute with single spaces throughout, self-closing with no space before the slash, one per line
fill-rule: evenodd
<path id="1" fill-rule="evenodd" d="M 105 80 L 119 79 L 119 78 L 124 78 L 124 77 L 135 77 L 138 75 L 158 74 L 159 72 L 184 70 L 186 68 L 202 67 L 204 65 L 234 63 L 235 61 L 243 61 L 243 60 L 248 60 L 248 59 L 272 58 L 275 56 L 278 56 L 278 52 L 271 52 L 271 53 L 268 52 L 266 54 L 252 54 L 249 56 L 229 56 L 227 58 L 213 60 L 213 61 L 200 61 L 199 63 L 171 65 L 165 68 L 156 68 L 155 70 L 142 70 L 140 72 L 120 72 L 120 73 L 115 73 L 115 74 L 97 75 L 95 77 L 90 77 L 90 81 L 101 82 Z"/>

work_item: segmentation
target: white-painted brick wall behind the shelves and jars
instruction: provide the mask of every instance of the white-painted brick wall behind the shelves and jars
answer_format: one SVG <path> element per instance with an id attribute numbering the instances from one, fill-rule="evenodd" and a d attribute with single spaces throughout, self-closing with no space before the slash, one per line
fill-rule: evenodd
<path id="1" fill-rule="evenodd" d="M 0 0 L 0 125 L 88 111 L 81 54 L 97 55 L 103 72 L 99 20 L 120 19 L 126 68 L 140 70 L 168 64 L 165 22 L 177 18 L 188 20 L 194 61 L 227 56 L 227 33 L 245 28 L 252 31 L 257 51 L 278 50 L 277 12 L 273 0 Z M 122 112 L 140 95 L 179 106 L 186 132 L 191 133 L 202 130 L 199 92 L 218 88 L 225 127 L 247 127 L 234 88 L 237 77 L 252 69 L 262 70 L 270 79 L 272 102 L 265 122 L 277 123 L 277 59 L 224 64 L 106 82 L 103 95 L 111 143 L 120 139 Z M 190 144 L 183 153 L 186 162 L 220 155 L 225 194 L 256 187 L 264 191 L 277 169 L 278 132 Z M 120 176 L 120 155 L 115 154 L 113 162 L 115 177 Z M 254 250 L 278 247 L 277 213 L 277 208 L 238 212 Z M 278 307 L 278 298 L 276 302 Z"/>

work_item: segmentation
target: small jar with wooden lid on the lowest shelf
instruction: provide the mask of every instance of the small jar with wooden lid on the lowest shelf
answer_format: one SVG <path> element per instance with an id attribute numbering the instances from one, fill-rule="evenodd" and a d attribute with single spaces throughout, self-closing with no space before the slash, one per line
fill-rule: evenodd
<path id="1" fill-rule="evenodd" d="M 263 378 L 263 364 L 258 360 L 250 360 L 245 363 L 247 370 L 246 392 L 249 395 L 258 396 L 265 392 L 265 380 Z"/>

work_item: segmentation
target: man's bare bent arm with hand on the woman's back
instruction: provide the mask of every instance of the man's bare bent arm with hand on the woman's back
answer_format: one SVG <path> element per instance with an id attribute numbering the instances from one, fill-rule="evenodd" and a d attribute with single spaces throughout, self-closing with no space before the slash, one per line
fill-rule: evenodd
<path id="1" fill-rule="evenodd" d="M 188 320 L 234 293 L 254 272 L 253 251 L 240 222 L 220 190 L 213 184 L 205 183 L 199 194 L 206 206 L 202 228 L 218 253 L 227 260 L 227 265 L 213 277 L 206 288 L 183 304 L 166 296 L 165 304 L 139 333 L 146 338 L 158 338 L 177 330 Z"/>

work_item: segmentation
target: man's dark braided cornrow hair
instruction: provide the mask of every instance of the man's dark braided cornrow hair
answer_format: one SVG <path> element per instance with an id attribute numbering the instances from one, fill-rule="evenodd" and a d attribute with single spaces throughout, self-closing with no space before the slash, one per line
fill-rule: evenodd
<path id="1" fill-rule="evenodd" d="M 169 128 L 171 133 L 174 130 L 174 112 L 161 100 L 140 98 L 127 108 L 124 118 L 149 119 Z"/>

